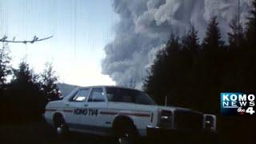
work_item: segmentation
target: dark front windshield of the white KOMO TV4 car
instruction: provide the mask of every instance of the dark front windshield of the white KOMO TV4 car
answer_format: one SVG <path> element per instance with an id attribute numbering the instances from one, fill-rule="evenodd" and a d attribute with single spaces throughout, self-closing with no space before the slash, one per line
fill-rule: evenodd
<path id="1" fill-rule="evenodd" d="M 155 102 L 146 93 L 140 90 L 106 87 L 106 96 L 109 102 L 130 102 L 142 105 L 155 105 Z"/>

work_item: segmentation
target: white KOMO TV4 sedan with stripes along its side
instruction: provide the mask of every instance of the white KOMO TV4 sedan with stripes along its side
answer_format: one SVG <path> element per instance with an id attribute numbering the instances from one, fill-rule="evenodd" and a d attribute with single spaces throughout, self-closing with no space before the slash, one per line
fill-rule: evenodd
<path id="1" fill-rule="evenodd" d="M 116 136 L 120 143 L 163 131 L 216 131 L 212 114 L 157 106 L 144 92 L 118 86 L 77 88 L 62 100 L 49 102 L 44 116 L 59 135 L 101 134 Z"/>

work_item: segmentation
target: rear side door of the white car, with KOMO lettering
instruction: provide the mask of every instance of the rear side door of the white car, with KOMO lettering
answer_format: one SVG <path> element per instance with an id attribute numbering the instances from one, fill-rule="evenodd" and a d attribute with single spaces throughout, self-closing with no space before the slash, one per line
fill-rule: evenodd
<path id="1" fill-rule="evenodd" d="M 89 97 L 89 93 L 90 88 L 79 89 L 78 92 L 66 102 L 64 112 L 66 114 L 66 122 L 71 130 L 81 129 L 82 122 L 80 118 L 85 115 L 85 102 Z"/>

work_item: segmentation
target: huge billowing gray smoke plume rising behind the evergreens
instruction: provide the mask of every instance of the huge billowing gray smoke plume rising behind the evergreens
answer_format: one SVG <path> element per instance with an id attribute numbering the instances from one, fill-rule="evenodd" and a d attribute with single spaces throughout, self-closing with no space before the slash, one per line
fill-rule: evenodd
<path id="1" fill-rule="evenodd" d="M 114 0 L 113 7 L 120 21 L 114 41 L 105 47 L 102 73 L 117 85 L 133 82 L 137 88 L 170 33 L 186 34 L 194 25 L 203 38 L 207 22 L 217 15 L 225 39 L 224 31 L 230 30 L 230 21 L 238 15 L 238 0 Z M 250 0 L 241 0 L 242 22 L 249 7 Z"/>

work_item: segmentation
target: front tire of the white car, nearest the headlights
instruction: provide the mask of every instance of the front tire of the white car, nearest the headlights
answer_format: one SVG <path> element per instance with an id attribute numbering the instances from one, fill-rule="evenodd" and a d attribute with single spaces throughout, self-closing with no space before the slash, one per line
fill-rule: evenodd
<path id="1" fill-rule="evenodd" d="M 134 144 L 138 142 L 138 132 L 135 126 L 126 126 L 118 134 L 118 144 Z"/>

